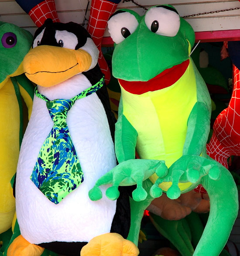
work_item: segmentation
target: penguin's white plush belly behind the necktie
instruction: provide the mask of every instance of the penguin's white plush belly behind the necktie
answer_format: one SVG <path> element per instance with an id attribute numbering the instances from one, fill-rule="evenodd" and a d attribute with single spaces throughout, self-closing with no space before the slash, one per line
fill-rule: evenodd
<path id="1" fill-rule="evenodd" d="M 85 88 L 84 88 L 85 89 Z M 17 166 L 16 208 L 21 235 L 27 241 L 89 242 L 110 232 L 116 201 L 105 196 L 91 201 L 89 190 L 96 180 L 116 166 L 113 141 L 103 105 L 96 93 L 77 100 L 67 116 L 70 135 L 84 173 L 84 182 L 54 204 L 30 180 L 38 153 L 53 122 L 46 102 L 34 97 L 31 119 L 21 145 Z"/>

